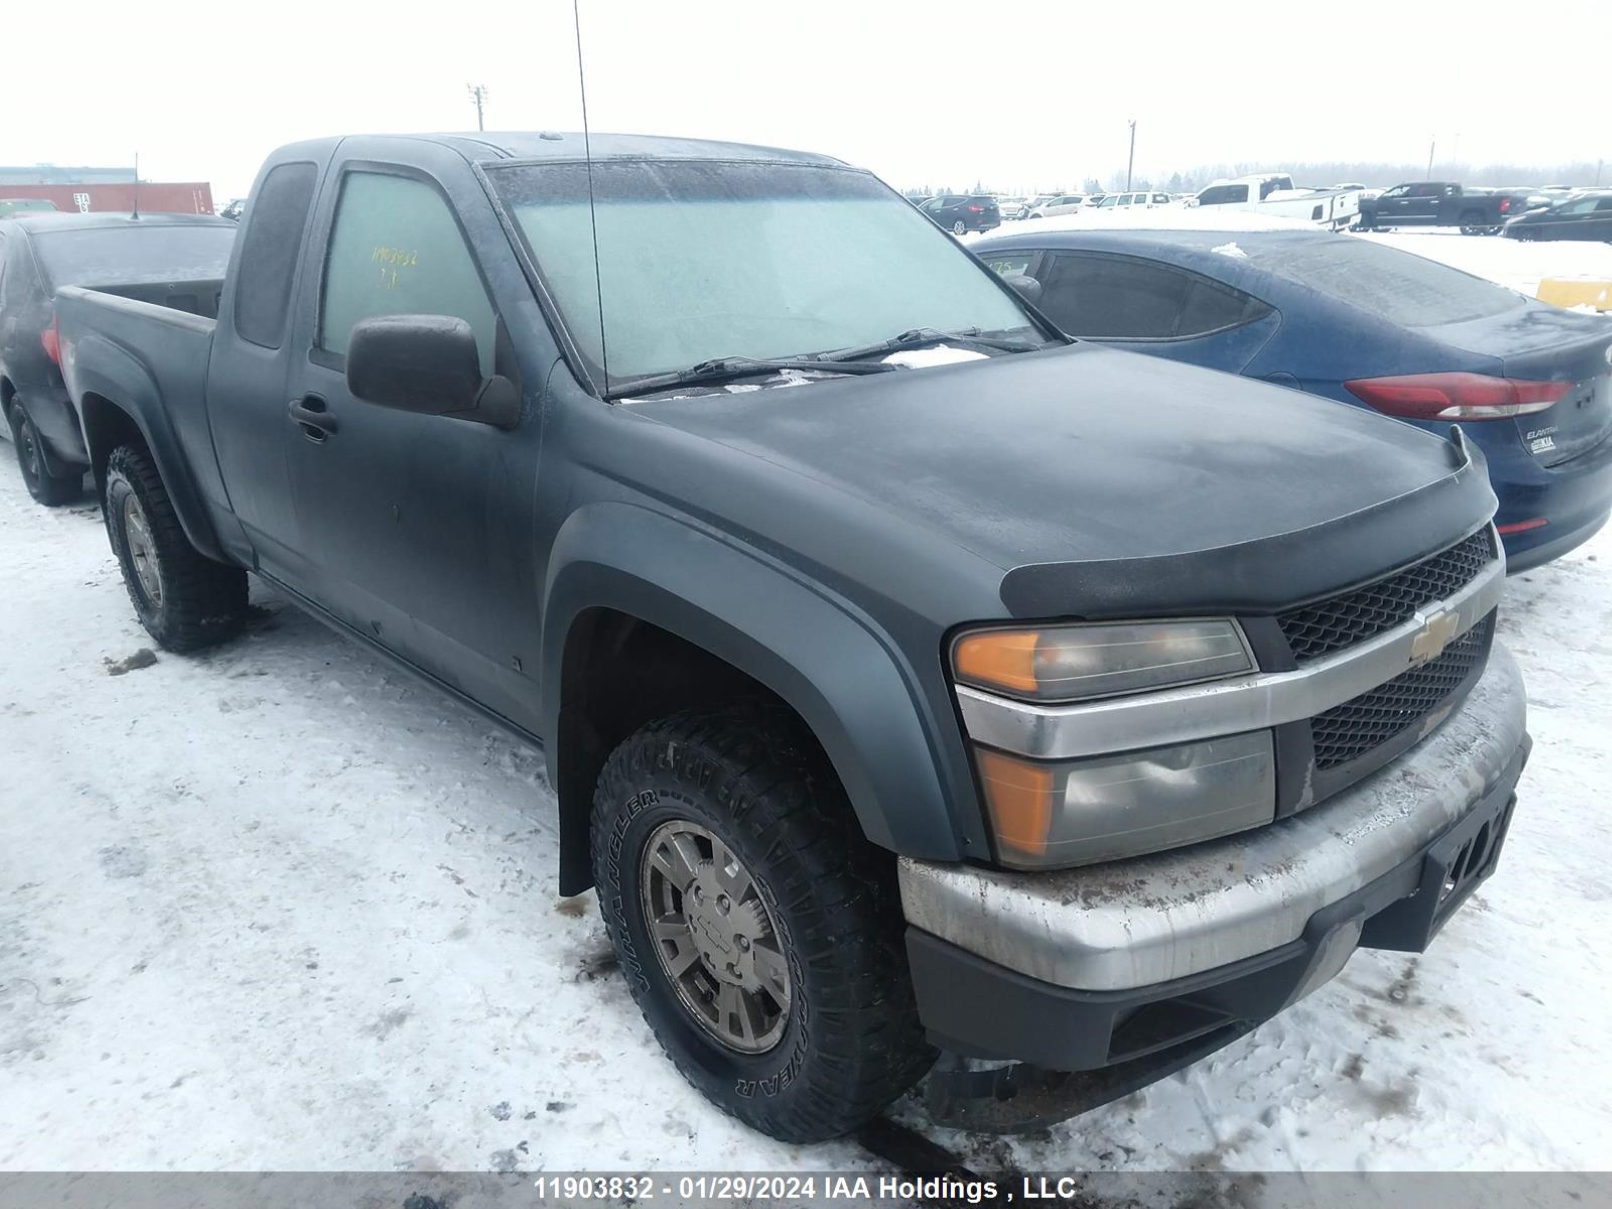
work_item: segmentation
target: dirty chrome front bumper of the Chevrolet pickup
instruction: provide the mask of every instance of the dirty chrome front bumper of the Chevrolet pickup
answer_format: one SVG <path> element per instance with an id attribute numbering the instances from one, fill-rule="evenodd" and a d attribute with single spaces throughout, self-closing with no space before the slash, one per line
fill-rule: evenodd
<path id="1" fill-rule="evenodd" d="M 901 858 L 908 922 L 1056 987 L 1148 987 L 1298 940 L 1317 911 L 1462 817 L 1525 742 L 1525 695 L 1494 645 L 1460 709 L 1404 756 L 1301 814 L 1191 848 L 1014 874 Z"/>

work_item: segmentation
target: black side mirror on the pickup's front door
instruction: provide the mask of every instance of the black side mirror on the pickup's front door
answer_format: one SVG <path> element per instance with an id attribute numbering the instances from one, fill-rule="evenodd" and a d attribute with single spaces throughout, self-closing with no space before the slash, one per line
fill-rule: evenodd
<path id="1" fill-rule="evenodd" d="M 426 416 L 508 429 L 521 395 L 506 377 L 482 377 L 476 332 L 451 314 L 377 314 L 353 324 L 347 387 L 355 398 Z"/>

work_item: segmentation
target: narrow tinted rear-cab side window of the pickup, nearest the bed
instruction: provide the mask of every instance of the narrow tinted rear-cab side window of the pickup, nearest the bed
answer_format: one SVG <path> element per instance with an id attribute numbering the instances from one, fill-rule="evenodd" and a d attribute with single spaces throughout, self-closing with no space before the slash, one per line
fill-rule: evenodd
<path id="1" fill-rule="evenodd" d="M 247 235 L 235 269 L 235 334 L 264 348 L 285 340 L 292 274 L 301 255 L 303 227 L 313 205 L 313 164 L 280 164 L 251 198 Z"/>

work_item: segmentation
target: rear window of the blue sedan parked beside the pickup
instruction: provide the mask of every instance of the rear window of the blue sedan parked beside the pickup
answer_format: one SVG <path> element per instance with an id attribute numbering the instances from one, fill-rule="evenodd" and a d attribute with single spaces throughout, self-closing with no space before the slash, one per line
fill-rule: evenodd
<path id="1" fill-rule="evenodd" d="M 1523 305 L 1522 295 L 1494 282 L 1352 235 L 1272 240 L 1248 256 L 1267 272 L 1402 327 L 1483 319 Z"/>

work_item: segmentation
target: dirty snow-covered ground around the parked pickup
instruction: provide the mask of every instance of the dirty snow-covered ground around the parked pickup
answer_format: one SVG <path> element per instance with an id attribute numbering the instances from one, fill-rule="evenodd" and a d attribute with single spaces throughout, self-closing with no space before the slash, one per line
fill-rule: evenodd
<path id="1" fill-rule="evenodd" d="M 98 511 L 34 506 L 0 445 L 0 1169 L 870 1162 L 761 1138 L 661 1057 L 592 896 L 555 896 L 537 753 L 255 600 L 240 640 L 123 671 L 150 642 Z M 1612 530 L 1502 614 L 1536 746 L 1430 953 L 1359 953 L 1045 1135 L 937 1140 L 1030 1170 L 1612 1167 Z"/>

